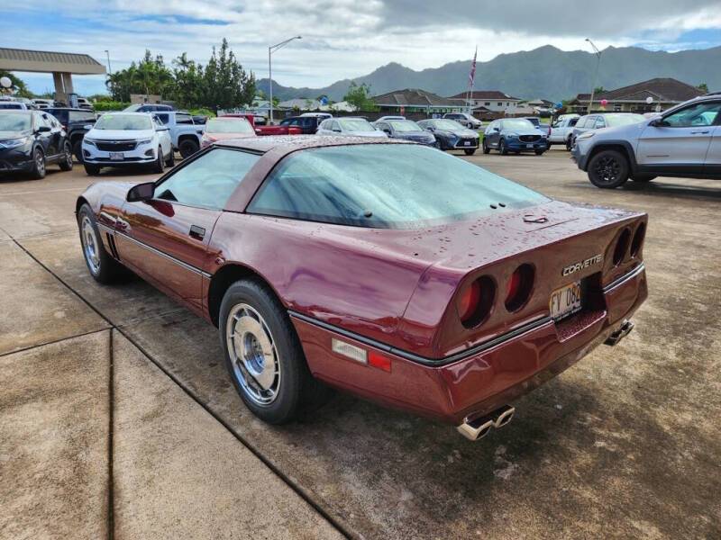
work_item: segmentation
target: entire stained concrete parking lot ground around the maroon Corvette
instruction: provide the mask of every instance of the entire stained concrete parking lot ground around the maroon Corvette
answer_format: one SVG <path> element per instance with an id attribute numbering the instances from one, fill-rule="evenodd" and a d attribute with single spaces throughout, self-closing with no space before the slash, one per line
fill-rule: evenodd
<path id="1" fill-rule="evenodd" d="M 650 216 L 634 332 L 476 443 L 343 394 L 264 425 L 212 326 L 141 280 L 87 274 L 82 167 L 0 177 L 0 537 L 721 536 L 721 183 L 604 191 L 561 149 L 469 159 Z"/>

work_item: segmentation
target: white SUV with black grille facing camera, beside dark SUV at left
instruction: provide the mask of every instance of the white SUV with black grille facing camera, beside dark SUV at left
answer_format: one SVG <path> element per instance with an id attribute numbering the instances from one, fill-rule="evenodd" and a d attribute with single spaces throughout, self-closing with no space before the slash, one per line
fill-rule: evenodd
<path id="1" fill-rule="evenodd" d="M 169 130 L 150 112 L 105 112 L 83 138 L 83 165 L 88 175 L 103 166 L 148 164 L 156 173 L 173 166 Z"/>

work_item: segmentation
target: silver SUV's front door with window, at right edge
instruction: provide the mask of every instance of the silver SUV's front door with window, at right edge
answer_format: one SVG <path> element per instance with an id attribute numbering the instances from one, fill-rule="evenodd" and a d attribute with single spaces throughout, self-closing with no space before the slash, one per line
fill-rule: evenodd
<path id="1" fill-rule="evenodd" d="M 721 100 L 703 101 L 648 121 L 638 139 L 636 161 L 659 172 L 673 167 L 681 169 L 679 172 L 700 173 L 719 111 Z"/>

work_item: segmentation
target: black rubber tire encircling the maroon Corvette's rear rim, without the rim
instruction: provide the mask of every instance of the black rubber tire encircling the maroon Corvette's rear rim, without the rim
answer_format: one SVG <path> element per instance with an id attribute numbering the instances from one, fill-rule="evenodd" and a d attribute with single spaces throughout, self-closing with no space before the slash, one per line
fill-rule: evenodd
<path id="1" fill-rule="evenodd" d="M 280 388 L 278 396 L 269 405 L 260 405 L 252 401 L 235 378 L 233 361 L 226 344 L 226 327 L 230 311 L 239 303 L 246 303 L 260 313 L 276 345 L 281 373 Z M 275 295 L 265 285 L 253 280 L 235 282 L 224 294 L 218 326 L 225 366 L 245 406 L 255 416 L 269 424 L 283 424 L 294 419 L 301 406 L 304 379 L 310 377 L 310 374 L 307 373 L 306 358 L 296 331 Z"/>

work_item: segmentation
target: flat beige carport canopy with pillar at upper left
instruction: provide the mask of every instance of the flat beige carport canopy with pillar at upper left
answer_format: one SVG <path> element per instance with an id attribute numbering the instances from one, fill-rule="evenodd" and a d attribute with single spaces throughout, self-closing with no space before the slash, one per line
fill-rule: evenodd
<path id="1" fill-rule="evenodd" d="M 0 69 L 52 73 L 55 99 L 67 102 L 73 93 L 72 74 L 104 75 L 105 66 L 87 54 L 0 47 Z"/>

